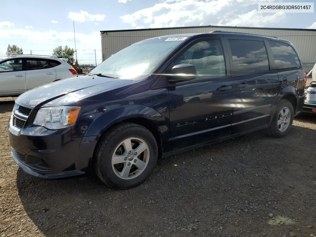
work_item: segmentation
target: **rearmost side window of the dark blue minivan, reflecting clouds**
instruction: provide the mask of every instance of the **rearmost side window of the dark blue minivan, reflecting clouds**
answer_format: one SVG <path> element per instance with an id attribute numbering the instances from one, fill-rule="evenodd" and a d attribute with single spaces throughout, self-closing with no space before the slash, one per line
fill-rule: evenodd
<path id="1" fill-rule="evenodd" d="M 297 54 L 294 49 L 283 42 L 269 40 L 276 69 L 288 69 L 301 67 Z"/>

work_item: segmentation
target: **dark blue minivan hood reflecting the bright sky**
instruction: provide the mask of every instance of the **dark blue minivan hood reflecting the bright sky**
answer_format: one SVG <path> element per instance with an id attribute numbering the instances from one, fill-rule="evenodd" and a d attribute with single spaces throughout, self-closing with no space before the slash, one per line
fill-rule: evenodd
<path id="1" fill-rule="evenodd" d="M 15 103 L 30 108 L 67 105 L 82 97 L 125 86 L 133 80 L 100 76 L 74 76 L 48 83 L 21 94 Z"/>

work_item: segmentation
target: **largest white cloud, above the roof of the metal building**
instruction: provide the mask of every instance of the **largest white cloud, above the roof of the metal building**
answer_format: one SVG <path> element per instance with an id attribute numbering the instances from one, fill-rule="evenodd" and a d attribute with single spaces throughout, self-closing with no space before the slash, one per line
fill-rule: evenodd
<path id="1" fill-rule="evenodd" d="M 246 7 L 249 12 L 245 11 Z M 245 13 L 240 14 L 242 10 Z M 199 25 L 264 27 L 283 21 L 285 13 L 259 13 L 258 0 L 163 0 L 153 7 L 120 18 L 132 27 L 144 24 L 150 28 Z"/>

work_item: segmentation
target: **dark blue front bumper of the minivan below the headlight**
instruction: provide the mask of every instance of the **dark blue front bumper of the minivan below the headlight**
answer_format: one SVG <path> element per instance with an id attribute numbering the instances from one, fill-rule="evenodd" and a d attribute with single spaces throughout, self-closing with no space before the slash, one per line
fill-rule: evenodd
<path id="1" fill-rule="evenodd" d="M 31 128 L 29 128 L 31 129 Z M 23 135 L 8 128 L 12 158 L 25 172 L 45 179 L 84 174 L 91 167 L 97 137 L 70 137 L 71 130 L 49 136 Z"/>

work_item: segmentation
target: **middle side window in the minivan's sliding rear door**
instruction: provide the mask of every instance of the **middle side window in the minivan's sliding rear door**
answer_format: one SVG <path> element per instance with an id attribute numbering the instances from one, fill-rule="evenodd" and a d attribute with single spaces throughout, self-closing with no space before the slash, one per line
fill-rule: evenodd
<path id="1" fill-rule="evenodd" d="M 269 62 L 263 41 L 228 40 L 233 56 L 234 75 L 257 74 L 269 71 Z"/>

